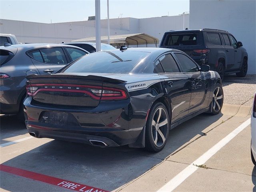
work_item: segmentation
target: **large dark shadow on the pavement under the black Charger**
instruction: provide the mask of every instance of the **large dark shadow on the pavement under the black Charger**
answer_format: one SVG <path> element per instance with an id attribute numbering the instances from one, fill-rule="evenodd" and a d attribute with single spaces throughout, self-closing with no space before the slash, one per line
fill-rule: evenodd
<path id="1" fill-rule="evenodd" d="M 104 190 L 114 190 L 159 164 L 178 148 L 216 122 L 222 114 L 201 114 L 170 130 L 165 148 L 158 153 L 128 146 L 98 148 L 85 144 L 46 140 L 46 143 L 4 162 L 4 165 L 78 182 Z M 28 143 L 36 142 L 36 138 Z M 24 145 L 25 142 L 21 142 Z M 5 178 L 1 182 L 5 183 Z M 6 181 L 7 182 L 7 181 Z M 26 183 L 1 186 L 9 191 L 29 190 Z"/>

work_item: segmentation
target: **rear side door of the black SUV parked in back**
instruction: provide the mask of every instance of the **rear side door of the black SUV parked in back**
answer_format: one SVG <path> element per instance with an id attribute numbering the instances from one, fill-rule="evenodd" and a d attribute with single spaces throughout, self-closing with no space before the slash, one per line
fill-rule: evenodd
<path id="1" fill-rule="evenodd" d="M 234 69 L 235 64 L 235 50 L 234 47 L 231 45 L 231 42 L 228 38 L 228 34 L 222 33 L 222 38 L 224 40 L 223 44 L 226 51 L 226 64 L 227 64 L 227 70 Z M 222 40 L 222 41 L 223 41 Z"/>

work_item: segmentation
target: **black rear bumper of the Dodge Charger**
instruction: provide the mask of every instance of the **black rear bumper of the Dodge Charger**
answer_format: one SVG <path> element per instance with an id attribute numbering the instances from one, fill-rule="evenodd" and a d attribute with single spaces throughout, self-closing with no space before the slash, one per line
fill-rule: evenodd
<path id="1" fill-rule="evenodd" d="M 34 132 L 37 138 L 90 145 L 93 145 L 90 140 L 97 140 L 106 143 L 107 146 L 144 146 L 141 134 L 144 134 L 142 130 L 146 124 L 147 110 L 144 112 L 139 109 L 139 114 L 136 113 L 130 100 L 101 102 L 96 108 L 87 110 L 32 106 L 30 101 L 31 98 L 24 101 L 25 123 L 28 132 Z M 66 113 L 69 121 L 61 124 L 59 120 L 44 120 L 50 119 L 51 113 Z"/>

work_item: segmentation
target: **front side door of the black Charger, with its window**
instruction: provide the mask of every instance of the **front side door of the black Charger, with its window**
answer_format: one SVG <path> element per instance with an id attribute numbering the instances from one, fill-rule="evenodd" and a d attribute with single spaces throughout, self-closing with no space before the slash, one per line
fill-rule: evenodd
<path id="1" fill-rule="evenodd" d="M 191 115 L 208 107 L 210 98 L 208 78 L 204 76 L 203 72 L 200 72 L 198 65 L 187 55 L 181 52 L 174 52 L 174 56 L 184 74 L 190 79 L 191 100 L 188 115 Z"/>

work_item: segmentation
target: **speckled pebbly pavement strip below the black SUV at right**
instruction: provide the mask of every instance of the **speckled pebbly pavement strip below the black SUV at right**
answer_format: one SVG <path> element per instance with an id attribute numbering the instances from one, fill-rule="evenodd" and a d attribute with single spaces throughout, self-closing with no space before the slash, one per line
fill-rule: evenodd
<path id="1" fill-rule="evenodd" d="M 227 75 L 223 82 L 224 103 L 235 105 L 252 105 L 256 91 L 256 75 L 246 75 L 244 78 Z"/>

